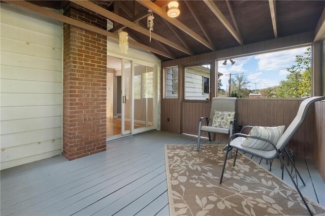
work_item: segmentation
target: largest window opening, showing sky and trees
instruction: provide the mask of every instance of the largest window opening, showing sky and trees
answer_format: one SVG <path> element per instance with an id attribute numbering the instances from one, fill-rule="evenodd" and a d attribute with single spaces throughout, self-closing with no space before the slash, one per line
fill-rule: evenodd
<path id="1" fill-rule="evenodd" d="M 218 61 L 218 97 L 296 98 L 311 95 L 311 47 Z"/>

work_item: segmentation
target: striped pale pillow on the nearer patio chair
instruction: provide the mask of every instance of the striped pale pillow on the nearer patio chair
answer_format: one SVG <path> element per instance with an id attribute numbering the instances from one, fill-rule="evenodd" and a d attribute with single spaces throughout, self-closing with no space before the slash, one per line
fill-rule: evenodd
<path id="1" fill-rule="evenodd" d="M 276 126 L 276 127 L 262 127 L 262 126 L 254 126 L 248 135 L 253 137 L 264 138 L 266 140 L 270 140 L 274 145 L 278 142 L 279 138 L 282 136 L 284 131 L 284 125 Z M 246 138 L 242 143 L 242 146 L 259 149 L 264 151 L 272 151 L 274 147 L 263 140 L 257 140 L 253 138 Z"/>

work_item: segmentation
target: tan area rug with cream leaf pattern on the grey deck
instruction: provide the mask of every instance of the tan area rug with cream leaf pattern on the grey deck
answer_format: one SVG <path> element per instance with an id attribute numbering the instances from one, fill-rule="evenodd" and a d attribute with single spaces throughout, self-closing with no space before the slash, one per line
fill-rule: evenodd
<path id="1" fill-rule="evenodd" d="M 221 145 L 166 145 L 171 215 L 309 215 L 296 189 L 243 154 L 236 165 Z M 306 197 L 314 215 L 325 207 Z"/>

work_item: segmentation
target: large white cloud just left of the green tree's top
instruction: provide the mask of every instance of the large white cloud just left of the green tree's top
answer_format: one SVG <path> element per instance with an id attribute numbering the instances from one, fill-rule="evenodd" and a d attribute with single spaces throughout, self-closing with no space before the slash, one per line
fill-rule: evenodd
<path id="1" fill-rule="evenodd" d="M 306 48 L 256 55 L 258 70 L 286 70 L 296 64 L 296 55 L 304 55 Z"/>

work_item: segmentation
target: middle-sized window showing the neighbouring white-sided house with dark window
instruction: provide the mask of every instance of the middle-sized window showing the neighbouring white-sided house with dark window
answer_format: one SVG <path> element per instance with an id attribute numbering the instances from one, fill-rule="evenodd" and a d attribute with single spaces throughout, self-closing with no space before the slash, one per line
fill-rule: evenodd
<path id="1" fill-rule="evenodd" d="M 210 64 L 185 67 L 185 99 L 209 100 Z"/>

